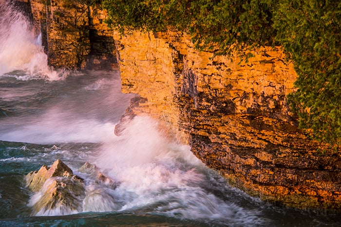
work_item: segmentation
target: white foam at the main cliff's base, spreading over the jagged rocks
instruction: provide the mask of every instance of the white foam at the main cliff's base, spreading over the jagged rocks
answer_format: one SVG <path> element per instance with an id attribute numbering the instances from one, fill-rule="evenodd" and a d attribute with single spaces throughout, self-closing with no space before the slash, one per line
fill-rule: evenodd
<path id="1" fill-rule="evenodd" d="M 79 166 L 70 166 L 74 174 L 85 179 L 85 194 L 73 197 L 76 199 L 73 207 L 66 204 L 51 209 L 41 206 L 45 191 L 54 182 L 52 178 L 29 202 L 35 209 L 34 215 L 150 213 L 216 225 L 268 224 L 259 210 L 237 204 L 228 193 L 214 193 L 214 190 L 226 190 L 225 181 L 213 182 L 210 170 L 190 153 L 189 146 L 166 140 L 157 128 L 157 122 L 149 117 L 135 117 L 122 136 L 113 135 L 103 140 L 97 154 L 87 157 L 97 167 L 91 166 L 91 171 L 87 172 L 77 171 Z M 98 172 L 107 180 L 99 180 Z"/>

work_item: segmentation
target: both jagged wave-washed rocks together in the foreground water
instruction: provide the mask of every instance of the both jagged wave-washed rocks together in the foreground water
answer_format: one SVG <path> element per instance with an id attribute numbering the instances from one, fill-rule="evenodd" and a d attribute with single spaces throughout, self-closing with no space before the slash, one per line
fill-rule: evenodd
<path id="1" fill-rule="evenodd" d="M 114 197 L 105 191 L 106 187 L 113 190 L 117 187 L 117 182 L 103 175 L 89 162 L 78 171 L 87 176 L 86 180 L 73 175 L 73 171 L 58 159 L 50 168 L 43 165 L 39 171 L 26 175 L 26 186 L 34 192 L 29 201 L 32 214 L 66 215 L 118 210 L 121 207 Z"/>

